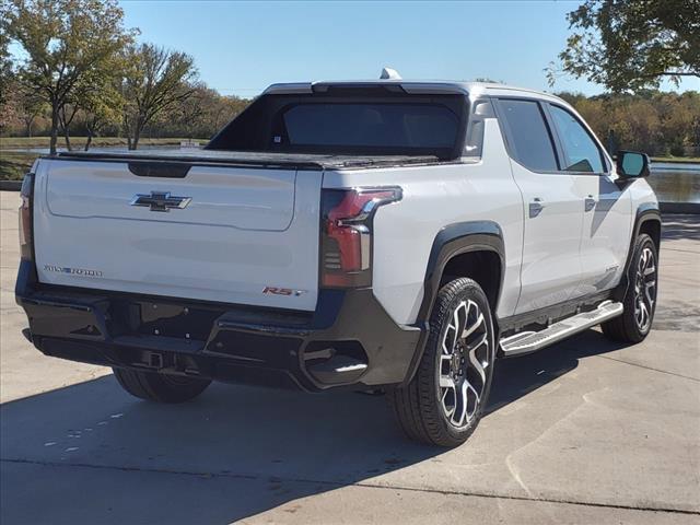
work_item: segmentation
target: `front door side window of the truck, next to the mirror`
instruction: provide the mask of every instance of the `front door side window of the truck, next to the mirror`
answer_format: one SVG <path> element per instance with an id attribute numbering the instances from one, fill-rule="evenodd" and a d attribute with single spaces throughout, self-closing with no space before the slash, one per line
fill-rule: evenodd
<path id="1" fill-rule="evenodd" d="M 600 150 L 576 117 L 558 106 L 550 105 L 549 110 L 564 150 L 564 170 L 603 173 Z"/>

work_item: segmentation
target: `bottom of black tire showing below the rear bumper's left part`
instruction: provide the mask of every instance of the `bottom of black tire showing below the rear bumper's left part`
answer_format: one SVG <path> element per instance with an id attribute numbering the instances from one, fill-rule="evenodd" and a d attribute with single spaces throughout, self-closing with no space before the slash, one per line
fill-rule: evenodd
<path id="1" fill-rule="evenodd" d="M 112 369 L 129 394 L 159 402 L 185 402 L 205 392 L 211 381 L 140 370 Z"/>

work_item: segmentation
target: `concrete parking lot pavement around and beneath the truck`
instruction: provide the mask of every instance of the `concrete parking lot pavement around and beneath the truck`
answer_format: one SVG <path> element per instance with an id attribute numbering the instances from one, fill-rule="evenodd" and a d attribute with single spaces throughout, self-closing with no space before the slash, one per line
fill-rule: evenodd
<path id="1" fill-rule="evenodd" d="M 497 364 L 454 451 L 381 397 L 213 385 L 138 401 L 40 355 L 15 306 L 18 195 L 0 194 L 1 513 L 12 524 L 700 523 L 700 217 L 666 218 L 654 330 L 588 330 Z"/>

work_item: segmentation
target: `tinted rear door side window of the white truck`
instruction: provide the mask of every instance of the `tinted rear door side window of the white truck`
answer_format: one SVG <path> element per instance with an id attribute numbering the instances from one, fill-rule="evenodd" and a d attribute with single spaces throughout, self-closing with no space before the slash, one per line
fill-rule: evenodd
<path id="1" fill-rule="evenodd" d="M 510 129 L 515 160 L 536 172 L 557 171 L 555 149 L 539 104 L 501 100 L 500 106 Z"/>

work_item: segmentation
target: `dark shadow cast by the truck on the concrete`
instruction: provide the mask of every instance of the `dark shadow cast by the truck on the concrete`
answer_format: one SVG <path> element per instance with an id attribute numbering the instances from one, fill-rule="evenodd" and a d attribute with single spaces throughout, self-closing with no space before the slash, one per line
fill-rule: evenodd
<path id="1" fill-rule="evenodd" d="M 498 362 L 482 424 L 580 359 L 617 348 L 588 330 Z M 105 376 L 8 402 L 0 416 L 7 524 L 230 523 L 293 512 L 293 500 L 445 453 L 408 442 L 383 398 L 353 393 L 214 384 L 168 406 L 136 400 Z"/>

